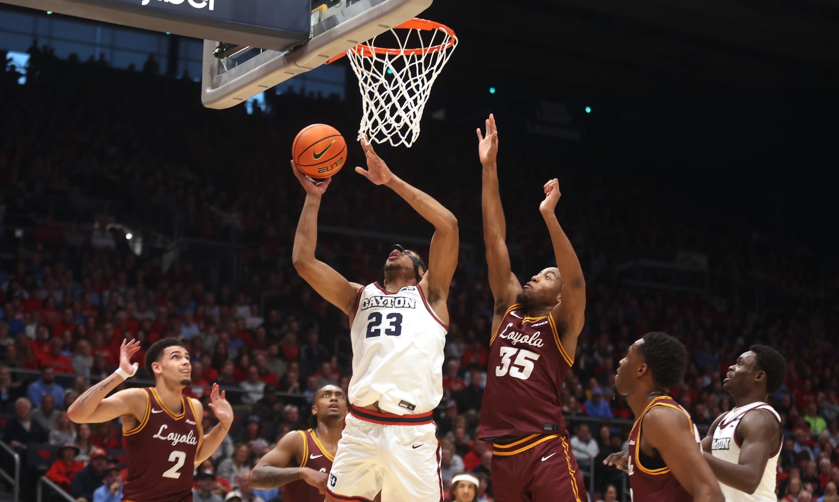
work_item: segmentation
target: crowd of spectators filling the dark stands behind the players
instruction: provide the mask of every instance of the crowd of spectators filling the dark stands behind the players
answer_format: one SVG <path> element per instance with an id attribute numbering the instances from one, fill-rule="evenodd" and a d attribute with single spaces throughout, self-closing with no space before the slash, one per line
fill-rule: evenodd
<path id="1" fill-rule="evenodd" d="M 41 81 L 50 81 L 50 72 L 68 76 L 60 87 L 18 86 L 11 79 L 2 84 L 3 442 L 23 458 L 31 457 L 29 447 L 49 446 L 55 462 L 43 470 L 61 489 L 88 502 L 116 499 L 124 467 L 121 426 L 76 425 L 66 409 L 112 373 L 123 339 L 142 342 L 135 356 L 142 361 L 150 343 L 180 337 L 192 361 L 186 394 L 208 400 L 217 382 L 237 412 L 230 435 L 196 470 L 195 500 L 279 499 L 277 490 L 250 489 L 248 471 L 279 437 L 305 427 L 316 389 L 326 383 L 347 389 L 351 354 L 346 316 L 305 285 L 290 263 L 303 191 L 289 172 L 289 152 L 275 145 L 290 145 L 310 122 L 349 133 L 357 113 L 334 98 L 289 94 L 270 97 L 283 118 L 248 116 L 241 107 L 209 111 L 188 81 L 54 64 Z M 494 112 L 504 134 L 504 111 Z M 460 221 L 446 395 L 437 424 L 444 481 L 475 473 L 478 500 L 487 501 L 492 452 L 475 436 L 492 321 L 480 165 L 473 136 L 435 133 L 434 123 L 423 135 L 425 143 L 408 152 L 383 149 L 383 157 Z M 360 152 L 350 150 L 351 164 L 360 162 Z M 538 167 L 522 170 L 513 158 Z M 650 188 L 621 175 L 592 174 L 584 165 L 555 172 L 524 152 L 502 152 L 500 162 L 513 268 L 522 275 L 553 260 L 536 211 L 545 173 L 560 178 L 560 222 L 580 256 L 588 295 L 586 326 L 562 400 L 586 483 L 594 477 L 593 499 L 621 497 L 623 475 L 601 462 L 626 447 L 633 418 L 614 390 L 618 361 L 634 339 L 660 330 L 680 337 L 691 354 L 685 381 L 672 392 L 705 430 L 732 407 L 722 375 L 737 355 L 751 343 L 778 348 L 789 363 L 784 387 L 772 397 L 784 427 L 779 497 L 835 501 L 836 258 L 805 244 L 784 244 L 782 235 L 756 231 L 712 207 L 703 208 L 703 219 L 691 217 L 690 202 L 678 194 L 638 204 Z M 102 201 L 111 201 L 106 215 Z M 139 255 L 126 228 L 114 225 L 129 221 L 147 243 Z M 185 249 L 173 258 L 169 249 L 151 245 L 154 232 L 165 233 L 171 222 L 182 224 L 181 237 L 210 247 L 207 256 Z M 320 222 L 372 236 L 320 234 L 320 259 L 357 282 L 380 279 L 391 242 L 376 235 L 431 234 L 404 202 L 350 169 L 324 196 Z M 220 254 L 212 243 L 218 249 L 240 245 L 238 274 L 225 268 L 212 275 L 220 263 L 208 258 Z M 680 252 L 702 254 L 709 275 L 749 289 L 680 292 L 622 280 L 618 265 L 624 261 L 675 262 Z M 747 291 L 758 291 L 762 301 L 752 301 Z M 134 380 L 126 384 L 149 384 L 149 375 L 141 371 Z M 206 411 L 205 429 L 212 421 Z"/>

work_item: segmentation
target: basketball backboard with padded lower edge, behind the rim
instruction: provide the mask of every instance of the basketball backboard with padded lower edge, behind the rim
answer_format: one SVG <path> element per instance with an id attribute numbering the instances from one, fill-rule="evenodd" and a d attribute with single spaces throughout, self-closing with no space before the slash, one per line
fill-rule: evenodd
<path id="1" fill-rule="evenodd" d="M 414 18 L 432 1 L 315 0 L 309 39 L 289 50 L 205 39 L 201 102 L 216 109 L 235 106 Z"/>

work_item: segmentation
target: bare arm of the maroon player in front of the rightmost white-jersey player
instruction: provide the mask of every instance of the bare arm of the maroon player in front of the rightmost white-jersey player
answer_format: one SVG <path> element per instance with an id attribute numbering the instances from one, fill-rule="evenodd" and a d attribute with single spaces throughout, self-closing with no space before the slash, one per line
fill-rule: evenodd
<path id="1" fill-rule="evenodd" d="M 668 406 L 653 406 L 644 415 L 644 437 L 659 451 L 670 472 L 695 502 L 723 502 L 717 478 L 702 458 L 693 425 L 684 413 Z M 640 446 L 640 445 L 639 445 Z"/>

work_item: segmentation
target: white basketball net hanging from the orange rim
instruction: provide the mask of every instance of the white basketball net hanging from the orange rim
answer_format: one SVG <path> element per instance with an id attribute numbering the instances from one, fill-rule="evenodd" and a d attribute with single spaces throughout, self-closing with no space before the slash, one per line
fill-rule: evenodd
<path id="1" fill-rule="evenodd" d="M 377 47 L 382 38 L 391 46 Z M 451 29 L 412 19 L 347 50 L 364 108 L 358 139 L 366 133 L 379 144 L 414 144 L 431 86 L 456 46 Z"/>

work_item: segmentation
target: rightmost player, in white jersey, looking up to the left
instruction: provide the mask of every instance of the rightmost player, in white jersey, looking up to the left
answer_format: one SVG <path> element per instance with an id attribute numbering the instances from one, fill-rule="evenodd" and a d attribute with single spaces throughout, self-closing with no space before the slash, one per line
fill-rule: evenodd
<path id="1" fill-rule="evenodd" d="M 767 404 L 786 378 L 777 350 L 753 345 L 737 358 L 723 380 L 734 409 L 711 424 L 702 449 L 728 502 L 776 502 L 778 454 L 784 437 L 780 416 Z"/>

